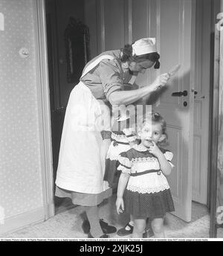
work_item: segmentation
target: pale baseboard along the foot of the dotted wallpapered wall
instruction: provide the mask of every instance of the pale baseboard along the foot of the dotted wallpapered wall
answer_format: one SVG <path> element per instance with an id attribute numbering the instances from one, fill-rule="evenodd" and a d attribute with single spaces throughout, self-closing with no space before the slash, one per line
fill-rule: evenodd
<path id="1" fill-rule="evenodd" d="M 45 209 L 37 208 L 33 211 L 28 211 L 24 214 L 19 214 L 13 217 L 5 218 L 4 223 L 0 223 L 0 237 L 4 237 L 4 234 L 17 231 L 25 228 L 28 225 L 40 223 L 45 220 Z"/>

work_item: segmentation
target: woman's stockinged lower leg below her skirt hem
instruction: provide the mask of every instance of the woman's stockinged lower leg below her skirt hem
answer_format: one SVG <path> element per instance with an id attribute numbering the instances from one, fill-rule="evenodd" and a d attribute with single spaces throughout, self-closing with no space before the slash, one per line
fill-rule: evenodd
<path id="1" fill-rule="evenodd" d="M 99 223 L 99 214 L 97 206 L 85 206 L 85 211 L 91 226 L 91 235 L 93 237 L 100 237 L 101 235 L 103 235 L 103 231 Z"/>

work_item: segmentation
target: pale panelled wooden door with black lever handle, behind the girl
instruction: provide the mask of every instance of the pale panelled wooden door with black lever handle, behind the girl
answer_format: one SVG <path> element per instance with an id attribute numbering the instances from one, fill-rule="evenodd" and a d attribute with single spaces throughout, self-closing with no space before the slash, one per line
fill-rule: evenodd
<path id="1" fill-rule="evenodd" d="M 158 48 L 161 54 L 159 73 L 181 64 L 178 74 L 158 98 L 154 110 L 167 121 L 169 148 L 174 153 L 175 167 L 168 177 L 175 204 L 175 214 L 190 222 L 193 167 L 193 109 L 194 109 L 194 27 L 195 4 L 192 0 L 159 1 Z M 186 92 L 172 96 L 172 92 Z"/>

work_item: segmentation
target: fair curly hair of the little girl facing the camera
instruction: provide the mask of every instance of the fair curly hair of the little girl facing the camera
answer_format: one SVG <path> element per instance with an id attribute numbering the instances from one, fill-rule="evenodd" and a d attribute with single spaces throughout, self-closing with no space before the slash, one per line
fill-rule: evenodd
<path id="1" fill-rule="evenodd" d="M 164 138 L 163 141 L 158 142 L 158 146 L 159 147 L 167 146 L 169 144 L 168 135 L 167 135 L 167 123 L 158 112 L 152 112 L 150 114 L 143 115 L 143 118 L 141 118 L 140 121 L 138 121 L 137 132 L 140 132 L 140 130 L 143 129 L 146 123 L 151 123 L 151 122 L 161 124 L 162 135 L 166 136 L 166 138 Z"/>

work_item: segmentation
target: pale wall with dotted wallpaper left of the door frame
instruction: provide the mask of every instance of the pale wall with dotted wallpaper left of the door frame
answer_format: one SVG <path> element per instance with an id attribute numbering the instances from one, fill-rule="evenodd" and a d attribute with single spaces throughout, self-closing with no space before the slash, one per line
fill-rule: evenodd
<path id="1" fill-rule="evenodd" d="M 0 234 L 44 219 L 32 4 L 0 0 Z"/>

